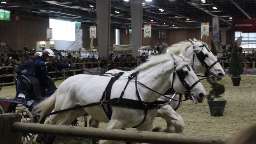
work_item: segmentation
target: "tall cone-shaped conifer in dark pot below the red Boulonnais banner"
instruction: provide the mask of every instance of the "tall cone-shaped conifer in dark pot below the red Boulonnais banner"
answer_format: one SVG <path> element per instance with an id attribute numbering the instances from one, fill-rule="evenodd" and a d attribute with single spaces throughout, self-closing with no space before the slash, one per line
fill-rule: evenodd
<path id="1" fill-rule="evenodd" d="M 231 53 L 231 61 L 229 66 L 229 75 L 231 76 L 233 86 L 239 86 L 241 81 L 241 75 L 244 73 L 243 66 L 238 54 L 237 43 L 234 44 L 233 51 Z"/>

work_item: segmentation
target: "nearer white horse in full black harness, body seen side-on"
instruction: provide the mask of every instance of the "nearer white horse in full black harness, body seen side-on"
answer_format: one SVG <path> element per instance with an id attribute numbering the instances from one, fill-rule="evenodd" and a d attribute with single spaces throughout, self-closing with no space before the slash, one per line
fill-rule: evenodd
<path id="1" fill-rule="evenodd" d="M 152 56 L 148 62 L 137 67 L 135 73 L 132 71 L 120 76 L 112 88 L 106 88 L 111 79 L 108 76 L 71 76 L 61 83 L 51 97 L 37 104 L 33 113 L 40 112 L 41 118 L 46 117 L 45 124 L 70 125 L 76 118 L 88 113 L 98 121 L 108 122 L 107 128 L 137 126 L 137 130 L 152 131 L 157 113 L 155 101 L 168 88 L 173 86 L 181 94 L 191 93 L 191 98 L 199 103 L 204 101 L 206 92 L 189 63 L 190 60 L 182 57 L 182 54 L 180 57 L 171 53 Z M 160 94 L 149 88 L 158 90 Z M 111 91 L 110 96 L 104 92 L 105 89 Z M 109 96 L 110 100 L 105 96 Z M 51 112 L 88 104 L 90 107 L 49 115 Z M 108 117 L 110 112 L 112 115 Z M 37 137 L 38 135 L 33 137 L 33 142 L 37 143 Z"/>

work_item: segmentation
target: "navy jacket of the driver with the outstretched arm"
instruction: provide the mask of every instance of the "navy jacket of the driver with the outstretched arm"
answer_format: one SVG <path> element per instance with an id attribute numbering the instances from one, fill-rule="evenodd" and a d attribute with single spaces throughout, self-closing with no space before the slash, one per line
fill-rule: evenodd
<path id="1" fill-rule="evenodd" d="M 42 78 L 43 76 L 46 76 L 48 72 L 51 71 L 53 68 L 51 67 L 51 65 L 44 65 L 45 62 L 46 60 L 44 60 L 42 56 L 37 58 L 33 64 L 32 69 L 30 69 L 30 71 L 28 72 L 28 75 L 35 76 L 37 78 Z M 55 65 L 57 66 L 57 68 L 69 68 L 69 64 L 58 63 L 54 61 L 53 66 L 55 67 Z"/>

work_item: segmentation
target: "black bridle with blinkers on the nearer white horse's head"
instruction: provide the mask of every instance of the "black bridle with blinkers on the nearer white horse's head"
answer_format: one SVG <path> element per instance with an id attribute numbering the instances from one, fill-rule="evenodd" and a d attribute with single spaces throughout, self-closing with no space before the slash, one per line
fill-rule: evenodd
<path id="1" fill-rule="evenodd" d="M 189 66 L 188 65 L 186 65 L 186 66 L 187 66 L 188 70 L 191 71 Z M 179 77 L 180 82 L 187 89 L 187 91 L 185 92 L 185 98 L 186 99 L 190 99 L 193 102 L 196 102 L 197 100 L 195 99 L 193 92 L 191 92 L 191 89 L 193 87 L 195 87 L 195 85 L 197 83 L 199 83 L 200 80 L 197 80 L 195 83 L 193 83 L 193 85 L 189 86 L 188 83 L 185 81 L 186 75 L 185 75 L 183 69 L 176 70 L 176 67 L 177 67 L 177 65 L 174 62 L 174 72 L 173 72 L 173 78 L 172 78 L 172 88 L 174 88 L 173 87 L 173 85 L 174 85 L 174 78 L 175 78 L 175 74 L 177 73 L 177 76 Z"/>

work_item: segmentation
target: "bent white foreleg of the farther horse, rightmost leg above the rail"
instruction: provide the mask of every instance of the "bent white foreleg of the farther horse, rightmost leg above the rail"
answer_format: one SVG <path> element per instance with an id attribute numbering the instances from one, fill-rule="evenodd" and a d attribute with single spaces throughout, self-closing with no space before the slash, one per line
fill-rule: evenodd
<path id="1" fill-rule="evenodd" d="M 163 106 L 157 110 L 157 115 L 166 120 L 167 127 L 156 127 L 154 132 L 183 133 L 185 124 L 181 115 L 176 113 L 170 105 Z"/>

